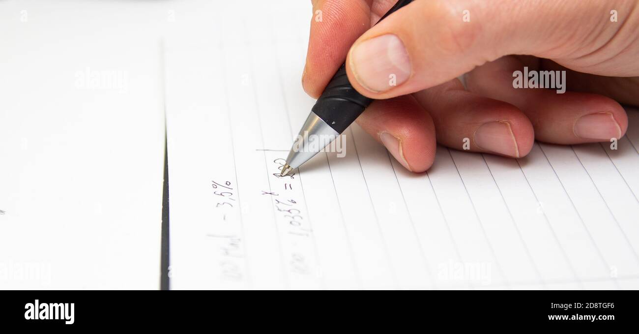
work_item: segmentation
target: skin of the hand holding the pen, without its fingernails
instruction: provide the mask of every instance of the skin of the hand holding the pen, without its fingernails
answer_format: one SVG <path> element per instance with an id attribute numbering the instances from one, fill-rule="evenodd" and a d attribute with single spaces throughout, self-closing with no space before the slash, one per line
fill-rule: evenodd
<path id="1" fill-rule="evenodd" d="M 576 122 L 604 115 L 594 117 L 603 127 L 612 117 L 620 137 L 627 129 L 620 104 L 639 106 L 635 0 L 415 0 L 374 27 L 395 0 L 312 3 L 304 90 L 319 97 L 346 60 L 355 89 L 382 99 L 357 123 L 380 142 L 383 133 L 397 138 L 399 154 L 393 155 L 411 171 L 433 164 L 436 143 L 461 150 L 464 138 L 470 138 L 472 152 L 511 157 L 528 154 L 535 139 L 564 145 L 609 141 L 578 136 Z M 315 20 L 317 10 L 321 22 Z M 470 22 L 463 21 L 464 10 Z M 611 22 L 611 10 L 617 11 L 617 22 Z M 389 34 L 406 49 L 410 75 L 396 86 L 373 90 L 360 82 L 367 67 L 353 53 Z M 524 66 L 566 70 L 566 93 L 512 88 L 513 71 Z M 466 87 L 457 79 L 465 73 Z M 502 154 L 478 145 L 474 134 L 487 122 L 507 124 L 512 137 L 496 133 L 491 140 L 504 145 L 514 140 L 517 150 Z"/>

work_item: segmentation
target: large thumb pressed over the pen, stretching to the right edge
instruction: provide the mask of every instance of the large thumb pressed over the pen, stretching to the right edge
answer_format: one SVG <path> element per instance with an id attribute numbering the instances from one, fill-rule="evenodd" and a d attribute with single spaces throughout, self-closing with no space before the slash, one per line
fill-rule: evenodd
<path id="1" fill-rule="evenodd" d="M 367 97 L 388 99 L 442 84 L 507 54 L 618 75 L 619 64 L 636 63 L 631 60 L 639 52 L 631 44 L 637 17 L 629 17 L 636 6 L 632 0 L 415 0 L 358 38 L 346 60 L 348 78 Z M 612 10 L 619 22 L 612 22 Z M 615 52 L 627 60 L 611 62 Z"/>

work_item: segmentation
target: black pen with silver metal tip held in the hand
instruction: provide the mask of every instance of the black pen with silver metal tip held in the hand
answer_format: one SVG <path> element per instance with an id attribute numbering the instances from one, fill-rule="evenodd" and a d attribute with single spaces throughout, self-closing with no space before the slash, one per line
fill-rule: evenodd
<path id="1" fill-rule="evenodd" d="M 385 19 L 412 0 L 398 0 L 378 21 Z M 339 67 L 324 89 L 300 130 L 282 166 L 281 176 L 298 168 L 337 138 L 364 112 L 373 99 L 353 88 L 346 76 L 346 63 Z"/>

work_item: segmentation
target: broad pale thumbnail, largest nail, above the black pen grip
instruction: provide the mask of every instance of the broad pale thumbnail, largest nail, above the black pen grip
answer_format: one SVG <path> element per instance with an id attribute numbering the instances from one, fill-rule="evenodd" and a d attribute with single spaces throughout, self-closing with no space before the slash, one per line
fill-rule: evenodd
<path id="1" fill-rule="evenodd" d="M 351 51 L 351 70 L 367 90 L 381 92 L 404 83 L 410 76 L 410 58 L 395 35 L 361 42 Z"/>

